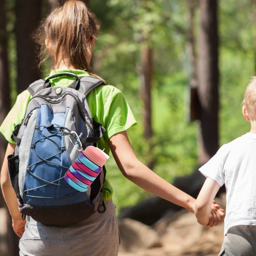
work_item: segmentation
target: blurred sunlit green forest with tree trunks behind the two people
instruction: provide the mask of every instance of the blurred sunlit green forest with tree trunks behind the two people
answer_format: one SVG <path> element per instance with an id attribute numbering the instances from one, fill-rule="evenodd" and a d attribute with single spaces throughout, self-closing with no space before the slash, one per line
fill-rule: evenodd
<path id="1" fill-rule="evenodd" d="M 42 72 L 37 70 L 35 45 L 29 35 L 57 2 L 0 0 L 0 122 L 17 94 L 33 80 L 48 74 L 47 65 Z M 253 0 L 84 2 L 101 20 L 101 33 L 93 53 L 93 71 L 124 94 L 138 121 L 128 131 L 131 144 L 138 158 L 154 172 L 172 183 L 176 177 L 194 172 L 216 153 L 217 146 L 249 131 L 241 103 L 250 77 L 255 74 Z M 216 144 L 213 153 L 202 160 L 202 127 L 200 118 L 193 115 L 198 107 L 191 102 L 195 99 L 194 89 L 198 87 L 193 79 L 200 80 L 202 73 L 197 64 L 203 50 L 199 40 L 200 20 L 206 2 L 218 3 L 217 10 L 207 10 L 215 11 L 218 22 L 216 28 L 211 24 L 209 27 L 214 26 L 218 40 L 208 42 L 218 49 L 218 56 L 210 56 L 217 57 L 214 61 L 217 61 L 216 77 L 219 79 L 212 86 L 218 89 L 217 108 L 214 107 L 218 119 L 208 120 L 206 125 L 210 127 L 217 122 L 218 128 L 212 134 Z M 201 56 L 204 57 L 207 56 Z M 3 159 L 6 144 L 2 137 Z M 117 210 L 152 197 L 122 176 L 113 157 L 106 168 Z"/>

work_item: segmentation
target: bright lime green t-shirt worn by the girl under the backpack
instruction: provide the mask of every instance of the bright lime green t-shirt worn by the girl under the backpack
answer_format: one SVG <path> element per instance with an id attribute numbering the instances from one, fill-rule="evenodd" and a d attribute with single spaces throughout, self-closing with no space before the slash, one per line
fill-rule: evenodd
<path id="1" fill-rule="evenodd" d="M 79 77 L 89 76 L 89 74 L 83 70 L 53 70 L 50 73 L 50 76 L 62 72 L 72 72 Z M 70 76 L 56 77 L 51 79 L 51 84 L 53 87 L 68 87 L 73 80 L 74 78 Z M 12 132 L 15 125 L 22 122 L 26 114 L 28 102 L 31 98 L 32 96 L 28 90 L 20 93 L 17 96 L 13 108 L 0 126 L 0 132 L 10 143 L 15 144 L 11 139 Z M 97 87 L 87 96 L 87 101 L 92 117 L 106 129 L 103 137 L 98 142 L 98 147 L 101 150 L 104 149 L 106 154 L 109 154 L 109 138 L 114 134 L 126 131 L 131 126 L 135 125 L 137 123 L 135 117 L 121 91 L 114 86 L 108 85 Z M 107 170 L 107 173 L 108 172 L 111 172 L 111 170 Z M 106 178 L 103 185 L 104 201 L 109 200 L 112 195 L 112 186 Z"/>

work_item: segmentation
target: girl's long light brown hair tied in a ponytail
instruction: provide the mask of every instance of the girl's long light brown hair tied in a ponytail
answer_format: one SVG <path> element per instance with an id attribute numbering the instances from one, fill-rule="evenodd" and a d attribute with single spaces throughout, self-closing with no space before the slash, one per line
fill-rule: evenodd
<path id="1" fill-rule="evenodd" d="M 39 66 L 54 57 L 54 67 L 63 60 L 68 62 L 66 65 L 98 77 L 92 73 L 89 56 L 90 40 L 97 39 L 99 29 L 97 17 L 81 1 L 69 0 L 63 6 L 53 8 L 34 33 L 40 47 Z M 53 56 L 45 47 L 46 38 L 51 41 Z"/>

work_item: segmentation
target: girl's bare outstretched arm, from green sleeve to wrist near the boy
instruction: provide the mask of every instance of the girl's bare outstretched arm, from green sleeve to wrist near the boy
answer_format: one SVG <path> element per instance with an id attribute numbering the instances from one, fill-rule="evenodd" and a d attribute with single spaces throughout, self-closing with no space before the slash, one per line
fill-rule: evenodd
<path id="1" fill-rule="evenodd" d="M 109 139 L 109 145 L 122 174 L 146 191 L 194 212 L 195 199 L 152 172 L 136 157 L 126 132 Z"/>

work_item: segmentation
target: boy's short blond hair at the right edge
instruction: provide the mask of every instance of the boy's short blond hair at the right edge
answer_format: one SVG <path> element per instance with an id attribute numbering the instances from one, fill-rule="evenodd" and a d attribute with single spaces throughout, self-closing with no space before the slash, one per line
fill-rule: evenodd
<path id="1" fill-rule="evenodd" d="M 252 121 L 256 120 L 256 76 L 252 76 L 244 93 L 242 102 Z"/>

